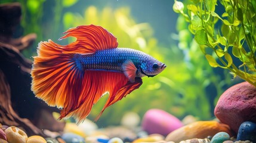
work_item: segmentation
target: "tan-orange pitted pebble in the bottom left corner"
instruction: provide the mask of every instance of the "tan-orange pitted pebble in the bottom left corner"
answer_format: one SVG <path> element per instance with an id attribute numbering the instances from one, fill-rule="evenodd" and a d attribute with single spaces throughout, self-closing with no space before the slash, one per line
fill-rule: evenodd
<path id="1" fill-rule="evenodd" d="M 5 129 L 5 134 L 9 143 L 26 143 L 27 141 L 27 134 L 15 126 Z"/>

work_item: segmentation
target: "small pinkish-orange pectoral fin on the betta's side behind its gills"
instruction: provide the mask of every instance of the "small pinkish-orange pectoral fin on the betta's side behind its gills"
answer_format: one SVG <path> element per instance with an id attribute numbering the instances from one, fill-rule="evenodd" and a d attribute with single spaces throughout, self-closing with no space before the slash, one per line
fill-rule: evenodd
<path id="1" fill-rule="evenodd" d="M 127 60 L 124 64 L 122 64 L 122 69 L 124 70 L 124 74 L 126 77 L 128 77 L 129 81 L 134 82 L 138 70 L 134 63 L 131 60 Z"/>

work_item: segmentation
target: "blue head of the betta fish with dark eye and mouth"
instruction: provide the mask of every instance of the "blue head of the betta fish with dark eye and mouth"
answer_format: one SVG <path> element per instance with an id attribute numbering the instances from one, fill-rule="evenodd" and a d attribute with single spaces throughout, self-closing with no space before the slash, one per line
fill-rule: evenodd
<path id="1" fill-rule="evenodd" d="M 161 73 L 166 65 L 158 60 L 149 60 L 140 65 L 140 74 L 143 76 L 153 77 Z"/>

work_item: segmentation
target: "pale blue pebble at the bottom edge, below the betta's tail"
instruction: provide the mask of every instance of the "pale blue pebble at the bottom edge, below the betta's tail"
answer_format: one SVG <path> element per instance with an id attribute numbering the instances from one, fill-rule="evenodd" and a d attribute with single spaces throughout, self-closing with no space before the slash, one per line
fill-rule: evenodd
<path id="1" fill-rule="evenodd" d="M 66 141 L 66 143 L 85 143 L 85 139 L 75 133 L 64 133 L 61 138 Z"/>

